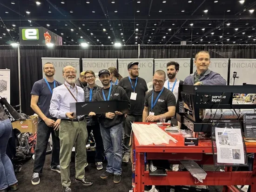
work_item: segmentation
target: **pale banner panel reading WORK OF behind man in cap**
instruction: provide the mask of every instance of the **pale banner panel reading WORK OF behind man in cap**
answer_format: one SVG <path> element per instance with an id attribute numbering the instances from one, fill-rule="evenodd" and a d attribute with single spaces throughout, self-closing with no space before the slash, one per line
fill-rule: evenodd
<path id="1" fill-rule="evenodd" d="M 139 62 L 139 76 L 146 80 L 148 90 L 153 89 L 153 63 L 154 59 L 118 59 L 118 71 L 123 77 L 129 75 L 127 66 L 130 62 Z"/>

